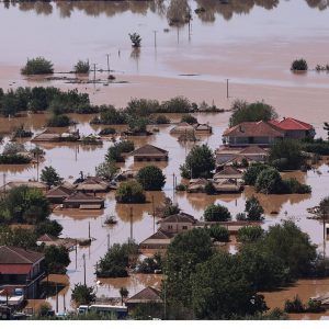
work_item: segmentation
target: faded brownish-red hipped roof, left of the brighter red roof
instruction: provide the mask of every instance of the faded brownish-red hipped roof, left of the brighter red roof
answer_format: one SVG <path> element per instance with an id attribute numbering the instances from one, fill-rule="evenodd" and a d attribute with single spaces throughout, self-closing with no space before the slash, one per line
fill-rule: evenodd
<path id="1" fill-rule="evenodd" d="M 243 122 L 231 128 L 228 128 L 223 134 L 224 137 L 284 137 L 284 133 L 263 121 Z"/>

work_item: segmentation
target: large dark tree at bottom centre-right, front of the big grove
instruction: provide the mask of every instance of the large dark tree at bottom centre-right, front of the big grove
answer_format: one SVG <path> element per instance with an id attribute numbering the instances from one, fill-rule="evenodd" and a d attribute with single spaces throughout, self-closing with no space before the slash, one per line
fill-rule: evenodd
<path id="1" fill-rule="evenodd" d="M 263 296 L 246 280 L 237 257 L 219 252 L 192 274 L 192 307 L 200 319 L 230 319 L 268 310 Z"/>

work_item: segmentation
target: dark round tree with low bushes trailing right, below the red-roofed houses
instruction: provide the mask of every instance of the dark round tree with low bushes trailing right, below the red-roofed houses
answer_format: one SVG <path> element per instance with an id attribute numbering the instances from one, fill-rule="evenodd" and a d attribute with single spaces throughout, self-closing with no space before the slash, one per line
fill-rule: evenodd
<path id="1" fill-rule="evenodd" d="M 253 163 L 243 173 L 243 180 L 247 185 L 253 185 L 257 192 L 264 194 L 291 194 L 310 193 L 309 185 L 299 183 L 291 178 L 283 180 L 280 172 L 263 163 Z"/>

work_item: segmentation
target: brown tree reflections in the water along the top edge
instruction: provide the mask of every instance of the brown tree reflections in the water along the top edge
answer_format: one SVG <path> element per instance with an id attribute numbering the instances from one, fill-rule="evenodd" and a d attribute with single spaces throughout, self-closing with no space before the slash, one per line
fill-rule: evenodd
<path id="1" fill-rule="evenodd" d="M 309 8 L 326 10 L 329 7 L 327 0 L 305 0 Z M 190 21 L 191 9 L 203 8 L 196 16 L 202 22 L 214 22 L 216 15 L 230 20 L 235 14 L 248 14 L 254 8 L 273 10 L 280 4 L 280 0 L 171 0 L 169 3 L 163 0 L 154 1 L 5 1 L 3 7 L 18 7 L 21 11 L 35 11 L 39 15 L 50 15 L 54 8 L 59 12 L 60 18 L 67 19 L 71 13 L 81 11 L 89 16 L 105 14 L 107 18 L 125 12 L 146 15 L 148 12 L 159 16 L 167 16 L 170 25 L 183 25 Z"/>

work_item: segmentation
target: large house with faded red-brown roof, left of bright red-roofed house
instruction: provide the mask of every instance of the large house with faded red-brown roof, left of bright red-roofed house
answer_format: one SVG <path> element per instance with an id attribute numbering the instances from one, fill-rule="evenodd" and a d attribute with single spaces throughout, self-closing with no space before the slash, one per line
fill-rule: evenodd
<path id="1" fill-rule="evenodd" d="M 271 146 L 275 140 L 285 137 L 285 133 L 274 125 L 264 121 L 243 122 L 223 134 L 223 141 L 230 147 L 247 147 L 258 145 L 262 147 Z"/>

